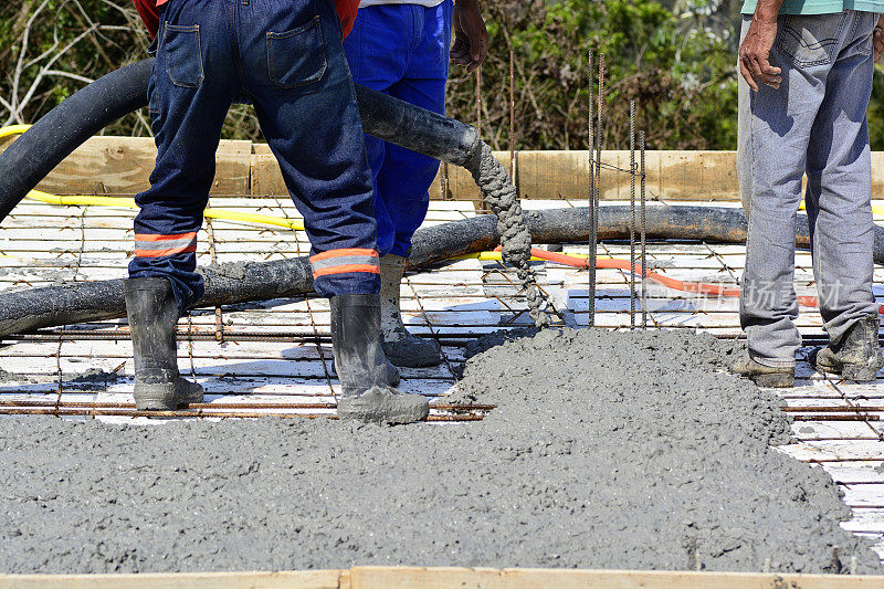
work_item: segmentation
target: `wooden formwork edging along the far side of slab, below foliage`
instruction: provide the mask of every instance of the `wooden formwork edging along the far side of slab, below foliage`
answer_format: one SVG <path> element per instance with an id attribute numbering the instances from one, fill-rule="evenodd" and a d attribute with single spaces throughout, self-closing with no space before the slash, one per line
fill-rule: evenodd
<path id="1" fill-rule="evenodd" d="M 0 151 L 9 143 L 0 145 Z M 495 151 L 523 199 L 588 198 L 586 150 Z M 149 137 L 93 137 L 77 148 L 39 186 L 55 194 L 134 194 L 148 188 L 156 147 Z M 282 196 L 288 191 L 266 144 L 223 140 L 217 154 L 213 194 Z M 636 160 L 638 161 L 638 160 Z M 735 151 L 646 151 L 649 198 L 688 201 L 739 199 Z M 602 152 L 600 198 L 623 200 L 630 194 L 630 154 Z M 873 188 L 884 189 L 884 154 L 873 154 Z M 481 196 L 470 173 L 459 166 L 442 166 L 430 188 L 434 200 L 478 203 Z"/>

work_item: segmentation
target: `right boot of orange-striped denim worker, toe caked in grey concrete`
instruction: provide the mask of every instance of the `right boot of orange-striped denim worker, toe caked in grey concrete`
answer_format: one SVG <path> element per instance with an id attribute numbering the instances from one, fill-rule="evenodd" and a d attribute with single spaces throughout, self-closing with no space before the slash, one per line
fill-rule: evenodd
<path id="1" fill-rule="evenodd" d="M 337 295 L 332 303 L 332 344 L 340 380 L 338 418 L 371 423 L 411 423 L 430 413 L 421 395 L 387 385 L 380 338 L 379 295 Z"/>

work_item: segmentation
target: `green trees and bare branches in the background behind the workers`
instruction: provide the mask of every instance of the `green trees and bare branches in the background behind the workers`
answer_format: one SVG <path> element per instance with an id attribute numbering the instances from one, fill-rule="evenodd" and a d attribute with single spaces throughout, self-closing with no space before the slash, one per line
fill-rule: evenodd
<path id="1" fill-rule="evenodd" d="M 739 0 L 483 3 L 491 53 L 482 67 L 481 125 L 495 147 L 509 145 L 512 50 L 516 147 L 586 148 L 587 62 L 593 49 L 607 59 L 607 148 L 628 146 L 630 99 L 636 103 L 636 127 L 646 130 L 649 148 L 735 148 Z M 36 120 L 87 80 L 143 59 L 148 45 L 130 0 L 3 2 L 0 124 Z M 461 120 L 480 120 L 476 77 L 456 65 L 448 107 Z M 884 80 L 878 74 L 870 115 L 873 148 L 884 148 Z M 146 113 L 105 133 L 149 135 Z M 224 137 L 261 138 L 251 108 L 231 109 Z"/>

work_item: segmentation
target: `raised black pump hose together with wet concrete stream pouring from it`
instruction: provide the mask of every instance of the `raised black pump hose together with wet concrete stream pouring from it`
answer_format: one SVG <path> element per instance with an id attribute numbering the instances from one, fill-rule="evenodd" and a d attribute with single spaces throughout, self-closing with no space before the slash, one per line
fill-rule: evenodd
<path id="1" fill-rule="evenodd" d="M 147 105 L 154 60 L 112 72 L 53 108 L 0 154 L 0 221 L 62 159 L 101 128 Z M 528 267 L 530 238 L 515 188 L 478 132 L 457 120 L 356 85 L 362 128 L 380 139 L 464 166 L 499 218 L 504 259 L 527 293 L 530 316 L 549 323 L 547 302 Z"/>

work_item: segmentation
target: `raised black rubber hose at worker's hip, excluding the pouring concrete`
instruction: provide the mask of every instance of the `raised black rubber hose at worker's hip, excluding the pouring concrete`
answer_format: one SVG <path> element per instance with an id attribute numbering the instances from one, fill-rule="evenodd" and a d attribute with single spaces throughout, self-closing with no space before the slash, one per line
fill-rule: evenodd
<path id="1" fill-rule="evenodd" d="M 0 221 L 86 139 L 147 106 L 152 66 L 154 60 L 144 60 L 96 80 L 0 154 Z M 470 125 L 358 84 L 356 96 L 369 135 L 459 166 L 478 149 L 478 132 Z"/>

